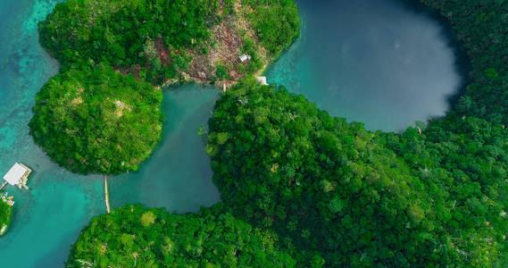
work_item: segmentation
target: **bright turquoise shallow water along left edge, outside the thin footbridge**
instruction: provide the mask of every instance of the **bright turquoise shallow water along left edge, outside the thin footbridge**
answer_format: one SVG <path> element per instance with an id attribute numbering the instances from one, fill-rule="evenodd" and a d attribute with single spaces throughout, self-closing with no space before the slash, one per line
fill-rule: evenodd
<path id="1" fill-rule="evenodd" d="M 34 94 L 58 67 L 37 45 L 37 21 L 50 1 L 0 3 L 0 173 L 22 161 L 35 169 L 29 191 L 7 188 L 16 204 L 0 239 L 0 266 L 61 264 L 79 228 L 102 212 L 101 183 L 64 172 L 29 137 Z"/>

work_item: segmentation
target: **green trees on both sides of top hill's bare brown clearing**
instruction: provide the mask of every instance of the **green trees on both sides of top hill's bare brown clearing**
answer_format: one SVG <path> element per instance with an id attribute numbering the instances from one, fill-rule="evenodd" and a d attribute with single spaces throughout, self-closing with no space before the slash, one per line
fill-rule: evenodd
<path id="1" fill-rule="evenodd" d="M 63 68 L 108 63 L 160 85 L 187 71 L 192 55 L 186 50 L 208 54 L 219 48 L 212 44 L 210 29 L 228 16 L 237 16 L 236 1 L 69 0 L 57 4 L 39 24 L 40 43 Z M 298 36 L 300 20 L 294 0 L 240 4 L 252 9 L 246 18 L 252 24 L 249 27 L 272 57 Z"/>

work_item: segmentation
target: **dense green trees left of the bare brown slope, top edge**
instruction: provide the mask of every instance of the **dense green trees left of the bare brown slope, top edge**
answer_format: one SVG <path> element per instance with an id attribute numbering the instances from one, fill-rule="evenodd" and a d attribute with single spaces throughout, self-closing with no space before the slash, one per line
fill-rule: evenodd
<path id="1" fill-rule="evenodd" d="M 178 50 L 210 38 L 218 7 L 217 0 L 70 0 L 40 23 L 40 41 L 65 66 L 145 64 L 162 46 Z"/>

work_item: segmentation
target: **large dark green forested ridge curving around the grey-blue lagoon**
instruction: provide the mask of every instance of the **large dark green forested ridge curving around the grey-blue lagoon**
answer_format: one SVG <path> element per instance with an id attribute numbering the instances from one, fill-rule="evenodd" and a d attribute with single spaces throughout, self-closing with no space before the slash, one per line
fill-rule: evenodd
<path id="1" fill-rule="evenodd" d="M 508 265 L 508 3 L 422 2 L 471 56 L 472 83 L 444 119 L 371 132 L 252 79 L 216 105 L 206 151 L 224 204 L 301 265 Z"/>

